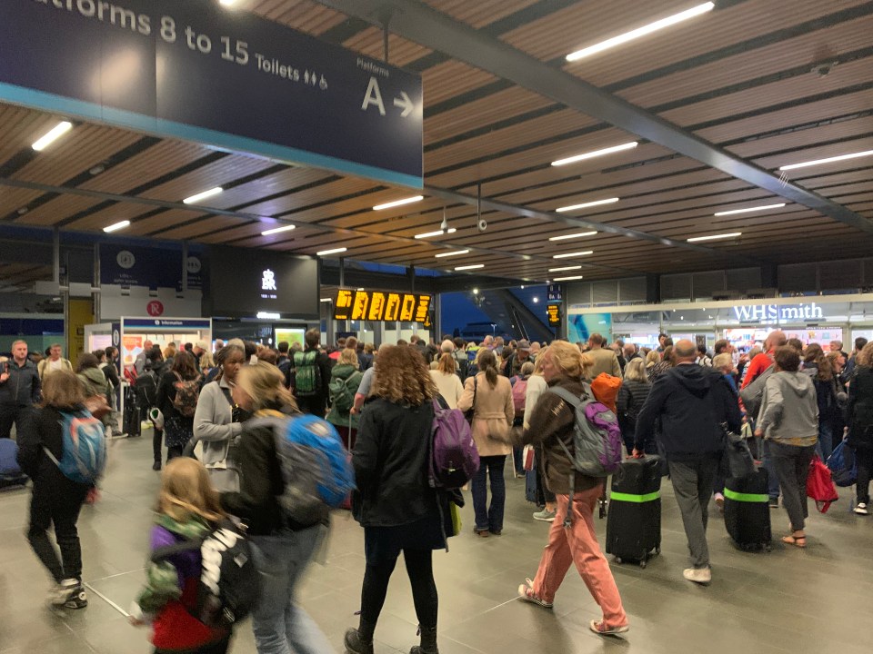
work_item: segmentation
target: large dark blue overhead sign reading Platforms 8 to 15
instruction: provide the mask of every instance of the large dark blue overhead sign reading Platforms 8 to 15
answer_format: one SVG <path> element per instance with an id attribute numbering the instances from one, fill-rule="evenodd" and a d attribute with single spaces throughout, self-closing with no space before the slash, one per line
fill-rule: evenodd
<path id="1" fill-rule="evenodd" d="M 3 0 L 0 100 L 422 186 L 421 77 L 213 0 Z"/>

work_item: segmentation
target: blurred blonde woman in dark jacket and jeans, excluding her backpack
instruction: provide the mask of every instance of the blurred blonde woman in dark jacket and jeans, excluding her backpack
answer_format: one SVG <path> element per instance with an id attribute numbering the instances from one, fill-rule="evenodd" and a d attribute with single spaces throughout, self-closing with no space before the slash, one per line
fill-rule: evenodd
<path id="1" fill-rule="evenodd" d="M 182 352 L 176 355 L 180 356 Z M 299 413 L 285 387 L 284 375 L 272 363 L 242 366 L 232 393 L 241 409 L 254 414 L 252 420 L 285 419 Z M 322 523 L 300 525 L 287 517 L 279 504 L 285 480 L 276 455 L 276 435 L 271 425 L 257 425 L 252 420 L 243 423 L 235 451 L 239 491 L 222 493 L 221 508 L 248 526 L 261 580 L 260 597 L 252 611 L 257 651 L 333 651 L 306 610 L 296 605 L 294 596 L 296 584 L 316 550 Z M 325 520 L 326 514 L 325 510 Z"/>

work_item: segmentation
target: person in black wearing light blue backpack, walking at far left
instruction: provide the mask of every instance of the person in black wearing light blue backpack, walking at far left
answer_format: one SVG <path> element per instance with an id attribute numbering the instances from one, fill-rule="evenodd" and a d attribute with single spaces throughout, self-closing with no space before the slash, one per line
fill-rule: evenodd
<path id="1" fill-rule="evenodd" d="M 42 408 L 32 410 L 18 432 L 18 463 L 34 482 L 27 540 L 55 580 L 49 603 L 65 609 L 88 605 L 75 523 L 105 466 L 103 424 L 85 411 L 84 401 L 73 372 L 46 375 Z M 60 557 L 48 538 L 52 525 Z"/>

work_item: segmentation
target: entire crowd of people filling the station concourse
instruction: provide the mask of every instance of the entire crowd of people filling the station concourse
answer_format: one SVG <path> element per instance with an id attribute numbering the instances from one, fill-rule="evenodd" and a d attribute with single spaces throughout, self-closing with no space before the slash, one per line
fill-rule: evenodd
<path id="1" fill-rule="evenodd" d="M 374 651 L 374 634 L 388 581 L 401 553 L 413 590 L 420 644 L 412 654 L 437 654 L 437 585 L 432 551 L 453 535 L 449 498 L 428 484 L 426 469 L 435 412 L 463 411 L 480 465 L 469 480 L 478 538 L 504 531 L 507 459 L 510 474 L 529 476 L 537 504 L 533 520 L 550 523 L 536 575 L 518 587 L 521 599 L 553 606 L 571 564 L 602 615 L 590 628 L 601 635 L 627 631 L 628 619 L 607 560 L 597 543 L 593 515 L 605 480 L 574 466 L 575 409 L 555 392 L 614 392 L 601 399 L 615 411 L 627 457 L 659 454 L 666 460 L 690 553 L 685 579 L 712 581 L 707 548 L 710 503 L 724 503 L 726 430 L 745 433 L 769 472 L 770 506 L 788 514 L 782 542 L 805 548 L 807 474 L 814 456 L 827 461 L 844 440 L 855 454 L 855 513 L 868 515 L 873 471 L 873 342 L 827 346 L 768 334 L 761 347 L 737 352 L 727 340 L 673 342 L 657 348 L 598 333 L 587 342 L 547 344 L 487 336 L 482 342 L 444 337 L 383 344 L 354 337 L 325 347 L 311 329 L 304 342 L 276 349 L 254 342 L 146 341 L 131 370 L 115 367 L 117 351 L 80 353 L 75 369 L 52 345 L 33 361 L 27 343 L 12 345 L 0 362 L 0 437 L 15 427 L 21 468 L 33 480 L 27 538 L 54 580 L 49 601 L 82 609 L 81 551 L 75 521 L 93 487 L 70 481 L 53 463 L 64 454 L 58 416 L 81 411 L 99 396 L 109 405 L 105 435 L 121 430 L 118 390 L 132 382 L 142 417 L 153 428 L 155 471 L 162 471 L 154 548 L 202 535 L 226 516 L 248 528 L 261 575 L 252 627 L 258 652 L 331 651 L 324 634 L 295 599 L 296 583 L 316 550 L 322 524 L 289 520 L 278 497 L 286 478 L 271 416 L 311 414 L 336 429 L 351 460 L 356 491 L 348 508 L 365 530 L 366 570 L 359 624 L 346 633 L 346 650 Z M 758 381 L 754 410 L 740 393 Z M 523 449 L 536 452 L 531 470 Z M 196 449 L 196 459 L 186 456 Z M 49 456 L 51 454 L 52 456 Z M 56 462 L 56 461 L 55 461 Z M 489 497 L 490 496 L 490 497 Z M 328 516 L 325 512 L 324 524 Z M 53 528 L 58 550 L 48 538 Z M 156 651 L 225 652 L 230 629 L 192 618 L 189 592 L 199 570 L 187 551 L 150 564 L 133 621 L 151 624 Z M 266 580 L 266 581 L 264 581 Z M 182 629 L 184 633 L 179 633 Z"/>

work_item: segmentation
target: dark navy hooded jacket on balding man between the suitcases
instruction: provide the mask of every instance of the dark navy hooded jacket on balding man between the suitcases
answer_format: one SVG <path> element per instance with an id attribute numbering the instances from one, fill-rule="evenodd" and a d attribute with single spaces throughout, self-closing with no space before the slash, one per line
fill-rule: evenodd
<path id="1" fill-rule="evenodd" d="M 680 363 L 652 383 L 637 415 L 637 450 L 654 437 L 658 419 L 657 438 L 670 461 L 720 456 L 725 448 L 721 423 L 739 431 L 742 422 L 737 395 L 721 372 L 694 362 Z"/>

